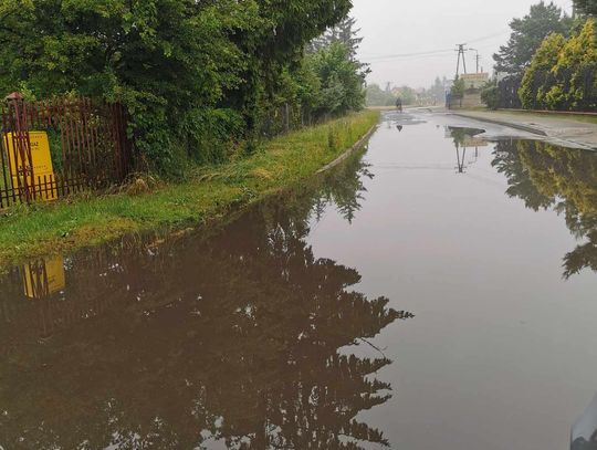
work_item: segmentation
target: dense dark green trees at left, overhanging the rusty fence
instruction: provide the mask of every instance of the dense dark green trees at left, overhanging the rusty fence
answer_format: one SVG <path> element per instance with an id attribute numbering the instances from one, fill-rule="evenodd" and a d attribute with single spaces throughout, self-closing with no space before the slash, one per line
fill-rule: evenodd
<path id="1" fill-rule="evenodd" d="M 280 105 L 311 117 L 360 107 L 349 0 L 0 0 L 0 87 L 123 102 L 154 167 L 219 160 Z M 348 43 L 348 45 L 346 45 Z"/>

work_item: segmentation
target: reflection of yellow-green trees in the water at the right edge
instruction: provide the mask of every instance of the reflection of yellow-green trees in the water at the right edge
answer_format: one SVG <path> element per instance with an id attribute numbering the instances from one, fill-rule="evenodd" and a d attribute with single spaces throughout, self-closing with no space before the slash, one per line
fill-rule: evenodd
<path id="1" fill-rule="evenodd" d="M 597 156 L 542 142 L 498 144 L 493 165 L 509 180 L 507 193 L 534 210 L 564 213 L 578 239 L 587 240 L 565 257 L 565 276 L 597 271 Z"/>

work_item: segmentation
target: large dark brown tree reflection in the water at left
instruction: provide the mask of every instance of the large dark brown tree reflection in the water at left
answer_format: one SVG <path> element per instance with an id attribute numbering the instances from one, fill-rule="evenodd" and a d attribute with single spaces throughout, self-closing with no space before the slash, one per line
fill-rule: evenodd
<path id="1" fill-rule="evenodd" d="M 390 362 L 339 349 L 408 314 L 350 291 L 355 270 L 315 260 L 305 237 L 316 200 L 274 199 L 209 240 L 70 260 L 56 303 L 83 320 L 38 343 L 41 303 L 19 303 L 0 333 L 15 336 L 0 359 L 0 446 L 387 444 L 355 417 L 388 399 L 373 374 Z"/>

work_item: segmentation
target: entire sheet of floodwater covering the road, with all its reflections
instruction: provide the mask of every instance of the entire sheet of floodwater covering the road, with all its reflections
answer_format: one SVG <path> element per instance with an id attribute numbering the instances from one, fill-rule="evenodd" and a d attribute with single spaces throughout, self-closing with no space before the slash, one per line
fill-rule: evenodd
<path id="1" fill-rule="evenodd" d="M 0 448 L 569 448 L 597 393 L 597 155 L 525 137 L 390 114 L 209 234 L 14 268 Z"/>

